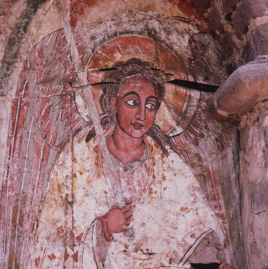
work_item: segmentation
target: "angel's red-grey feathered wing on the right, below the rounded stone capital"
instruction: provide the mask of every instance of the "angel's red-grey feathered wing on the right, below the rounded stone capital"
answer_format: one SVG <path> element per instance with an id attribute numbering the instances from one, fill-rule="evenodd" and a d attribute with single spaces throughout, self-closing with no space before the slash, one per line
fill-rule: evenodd
<path id="1" fill-rule="evenodd" d="M 174 136 L 177 152 L 189 165 L 217 216 L 225 238 L 227 259 L 240 263 L 241 212 L 238 186 L 238 136 L 234 126 L 214 120 L 209 112 L 212 93 L 201 92 L 197 111 L 188 128 Z M 232 246 L 236 244 L 236 249 Z M 233 253 L 236 253 L 233 256 Z M 242 261 L 241 261 L 242 263 Z"/>

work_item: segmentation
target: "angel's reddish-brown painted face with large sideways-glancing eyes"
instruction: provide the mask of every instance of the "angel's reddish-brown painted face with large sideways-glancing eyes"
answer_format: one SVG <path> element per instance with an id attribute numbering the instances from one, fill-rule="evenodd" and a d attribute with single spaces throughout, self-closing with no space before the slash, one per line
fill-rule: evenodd
<path id="1" fill-rule="evenodd" d="M 156 90 L 143 76 L 127 80 L 111 98 L 116 124 L 126 134 L 140 138 L 153 126 L 156 116 Z"/>

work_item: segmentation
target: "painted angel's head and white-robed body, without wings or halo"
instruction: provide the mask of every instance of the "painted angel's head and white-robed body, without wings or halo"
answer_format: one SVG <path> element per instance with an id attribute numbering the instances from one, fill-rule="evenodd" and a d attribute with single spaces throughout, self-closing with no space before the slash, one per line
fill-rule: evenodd
<path id="1" fill-rule="evenodd" d="M 92 124 L 67 142 L 50 174 L 28 268 L 190 268 L 204 257 L 225 260 L 215 213 L 200 202 L 205 196 L 174 139 L 155 124 L 165 87 L 151 67 L 130 59 L 104 76 L 100 117 L 111 159 L 103 159 Z M 111 164 L 129 197 L 112 195 Z"/>

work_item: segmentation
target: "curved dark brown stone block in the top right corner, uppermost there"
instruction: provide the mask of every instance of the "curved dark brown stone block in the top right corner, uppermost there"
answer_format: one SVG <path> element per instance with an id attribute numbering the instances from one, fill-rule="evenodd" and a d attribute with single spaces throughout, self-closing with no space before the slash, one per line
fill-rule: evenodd
<path id="1" fill-rule="evenodd" d="M 265 16 L 268 13 L 267 0 L 244 0 L 237 8 L 233 17 L 233 25 L 237 36 L 245 34 L 248 29 L 248 24 L 252 18 Z"/>

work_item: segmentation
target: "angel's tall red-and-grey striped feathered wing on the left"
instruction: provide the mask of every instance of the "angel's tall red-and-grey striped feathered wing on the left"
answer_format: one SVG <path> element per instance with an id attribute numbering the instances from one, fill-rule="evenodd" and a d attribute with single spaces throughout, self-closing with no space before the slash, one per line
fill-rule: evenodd
<path id="1" fill-rule="evenodd" d="M 83 39 L 77 30 L 73 34 L 83 57 Z M 88 125 L 75 106 L 70 84 L 74 77 L 63 30 L 38 42 L 21 71 L 12 102 L 1 188 L 3 268 L 24 268 L 55 157 L 76 132 Z"/>

